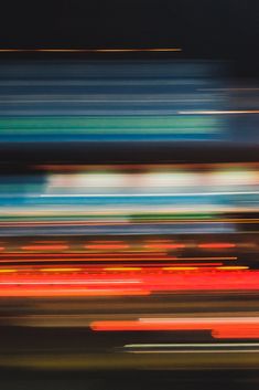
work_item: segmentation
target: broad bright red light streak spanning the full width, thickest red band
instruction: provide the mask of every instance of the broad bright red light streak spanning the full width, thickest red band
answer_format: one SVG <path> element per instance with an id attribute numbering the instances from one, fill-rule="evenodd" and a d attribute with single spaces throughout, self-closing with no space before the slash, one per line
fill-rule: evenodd
<path id="1" fill-rule="evenodd" d="M 155 264 L 155 267 L 140 266 L 31 266 L 26 267 L 2 267 L 0 273 L 0 296 L 23 296 L 23 289 L 31 286 L 39 289 L 50 287 L 62 291 L 64 286 L 67 289 L 83 288 L 87 285 L 106 288 L 110 284 L 116 289 L 125 289 L 126 285 L 138 281 L 139 289 L 148 291 L 149 294 L 174 294 L 180 292 L 258 292 L 259 291 L 259 271 L 249 270 L 246 266 L 229 268 L 224 266 L 211 267 L 182 264 L 168 267 Z M 165 267 L 166 270 L 163 270 Z M 196 270 L 194 270 L 196 267 Z M 79 268 L 79 271 L 75 271 Z M 13 272 L 4 272 L 13 270 Z M 52 270 L 52 271 L 48 271 Z M 69 270 L 69 271 L 68 271 Z M 72 271 L 73 270 L 73 271 Z M 45 286 L 45 287 L 44 287 Z M 19 289 L 20 288 L 20 289 Z M 15 295 L 17 294 L 17 295 Z M 31 292 L 32 296 L 32 292 Z M 78 293 L 79 296 L 79 293 Z"/>

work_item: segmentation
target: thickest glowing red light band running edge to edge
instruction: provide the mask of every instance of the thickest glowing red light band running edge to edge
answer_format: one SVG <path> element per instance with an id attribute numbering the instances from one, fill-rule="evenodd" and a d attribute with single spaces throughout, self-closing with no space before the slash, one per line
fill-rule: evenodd
<path id="1" fill-rule="evenodd" d="M 259 291 L 259 271 L 250 270 L 215 270 L 215 268 L 199 268 L 199 270 L 188 270 L 185 272 L 183 266 L 181 270 L 172 270 L 177 272 L 162 271 L 161 267 L 154 268 L 142 268 L 139 267 L 116 267 L 112 272 L 104 272 L 101 267 L 82 267 L 78 273 L 62 273 L 55 274 L 54 272 L 48 272 L 47 274 L 41 272 L 41 266 L 28 268 L 14 268 L 17 272 L 2 272 L 0 273 L 0 295 L 7 294 L 7 288 L 12 295 L 13 291 L 19 292 L 19 285 L 33 284 L 35 288 L 41 288 L 43 284 L 55 285 L 55 288 L 63 289 L 63 285 L 66 284 L 66 289 L 75 288 L 75 286 L 80 285 L 80 288 L 87 284 L 95 285 L 98 284 L 102 287 L 107 286 L 107 281 L 112 283 L 112 281 L 120 281 L 121 283 L 116 286 L 116 289 L 125 289 L 125 285 L 130 283 L 132 278 L 138 280 L 138 285 L 140 289 L 162 294 L 163 292 L 227 292 L 227 291 Z M 53 266 L 53 270 L 56 265 Z M 122 272 L 121 270 L 130 270 L 130 272 Z M 4 268 L 2 268 L 4 270 Z M 10 270 L 10 268 L 9 268 Z M 72 268 L 73 270 L 73 268 Z M 25 273 L 24 273 L 24 272 Z M 111 270 L 110 270 L 111 271 Z M 56 268 L 58 272 L 58 268 Z M 101 284 L 102 283 L 102 284 Z M 68 285 L 68 286 L 67 286 Z M 15 294 L 14 294 L 15 295 Z M 7 296 L 7 295 L 4 295 Z M 19 294 L 17 295 L 19 296 Z M 22 295 L 23 296 L 23 295 Z"/>

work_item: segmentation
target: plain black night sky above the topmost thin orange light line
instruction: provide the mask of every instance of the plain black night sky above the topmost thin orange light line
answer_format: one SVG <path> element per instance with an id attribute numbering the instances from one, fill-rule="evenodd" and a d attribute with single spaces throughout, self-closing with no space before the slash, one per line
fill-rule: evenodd
<path id="1" fill-rule="evenodd" d="M 166 48 L 259 67 L 258 0 L 63 0 L 1 3 L 0 48 Z"/>

